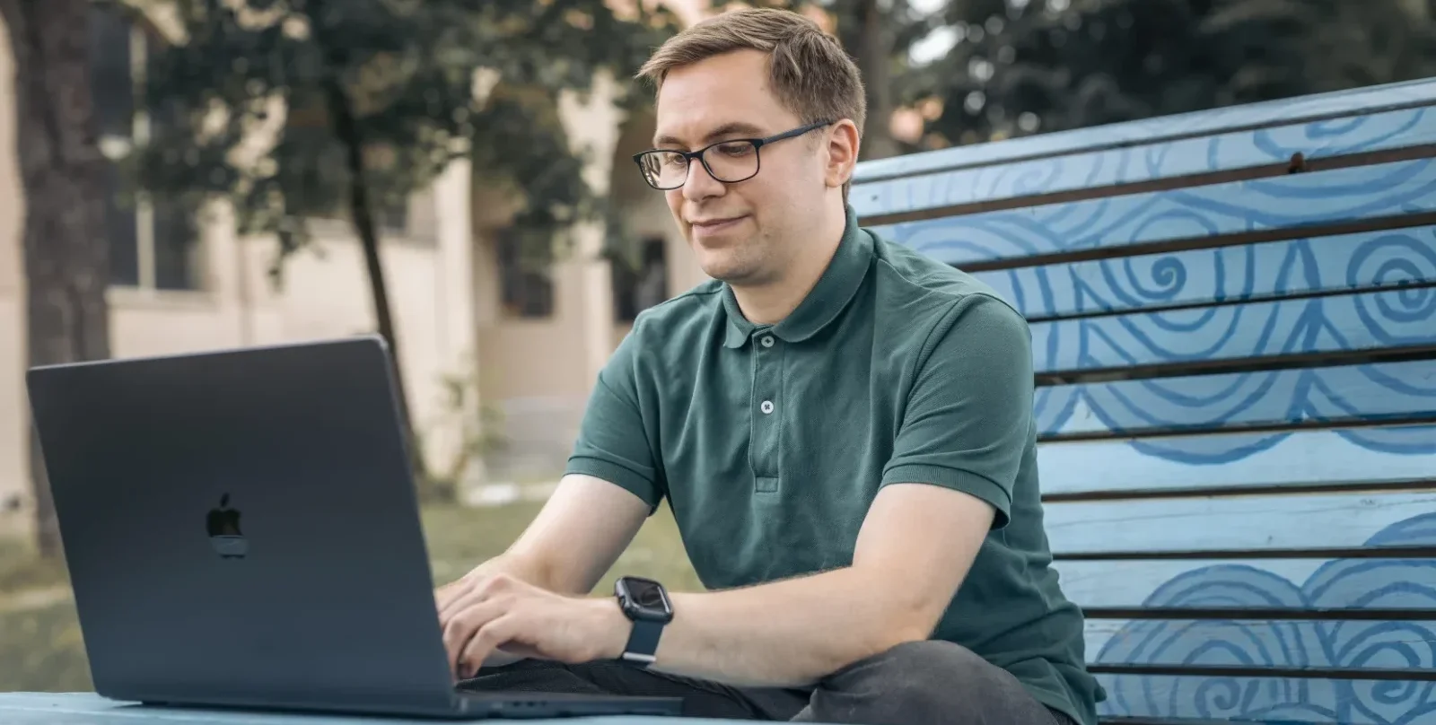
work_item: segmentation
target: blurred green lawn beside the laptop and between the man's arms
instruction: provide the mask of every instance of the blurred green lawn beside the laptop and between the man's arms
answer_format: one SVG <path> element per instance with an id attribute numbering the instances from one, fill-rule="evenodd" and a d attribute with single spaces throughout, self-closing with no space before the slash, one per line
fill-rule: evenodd
<path id="1" fill-rule="evenodd" d="M 501 553 L 540 505 L 426 508 L 424 531 L 435 583 L 451 581 Z M 643 525 L 595 591 L 612 591 L 619 574 L 653 577 L 675 590 L 701 589 L 666 507 Z M 75 604 L 66 593 L 62 564 L 39 560 L 22 541 L 0 538 L 0 692 L 93 689 Z"/>

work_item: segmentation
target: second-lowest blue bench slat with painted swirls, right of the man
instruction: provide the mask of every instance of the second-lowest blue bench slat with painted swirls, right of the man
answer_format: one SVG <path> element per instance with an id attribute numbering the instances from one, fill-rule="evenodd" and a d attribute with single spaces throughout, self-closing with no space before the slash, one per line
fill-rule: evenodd
<path id="1" fill-rule="evenodd" d="M 1436 670 L 1436 622 L 1088 619 L 1083 636 L 1101 665 Z"/>

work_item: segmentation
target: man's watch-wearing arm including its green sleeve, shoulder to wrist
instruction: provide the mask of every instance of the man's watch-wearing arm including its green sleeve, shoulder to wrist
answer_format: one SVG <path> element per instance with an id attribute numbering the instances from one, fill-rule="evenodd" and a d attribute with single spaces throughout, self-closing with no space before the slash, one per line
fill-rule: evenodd
<path id="1" fill-rule="evenodd" d="M 811 685 L 931 636 L 987 534 L 1007 524 L 1032 435 L 1025 320 L 998 300 L 969 297 L 935 335 L 852 566 L 672 594 L 655 669 L 732 685 Z M 613 616 L 622 616 L 616 607 Z M 616 635 L 605 655 L 616 656 L 615 647 Z"/>

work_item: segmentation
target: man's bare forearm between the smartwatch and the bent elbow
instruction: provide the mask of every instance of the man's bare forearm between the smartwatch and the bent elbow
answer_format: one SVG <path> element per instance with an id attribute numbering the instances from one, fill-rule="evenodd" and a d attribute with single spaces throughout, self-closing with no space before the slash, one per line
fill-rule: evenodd
<path id="1" fill-rule="evenodd" d="M 902 593 L 837 569 L 748 589 L 673 593 L 655 669 L 735 686 L 804 686 L 870 655 L 926 639 Z M 864 589 L 866 587 L 866 589 Z"/>

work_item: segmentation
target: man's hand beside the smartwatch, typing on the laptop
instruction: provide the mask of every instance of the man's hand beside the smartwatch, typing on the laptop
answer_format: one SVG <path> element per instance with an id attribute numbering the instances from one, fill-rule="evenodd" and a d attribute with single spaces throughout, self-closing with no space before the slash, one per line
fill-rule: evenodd
<path id="1" fill-rule="evenodd" d="M 556 594 L 508 574 L 471 573 L 437 591 L 449 670 L 523 658 L 577 665 L 617 658 L 632 623 L 612 599 Z"/>

